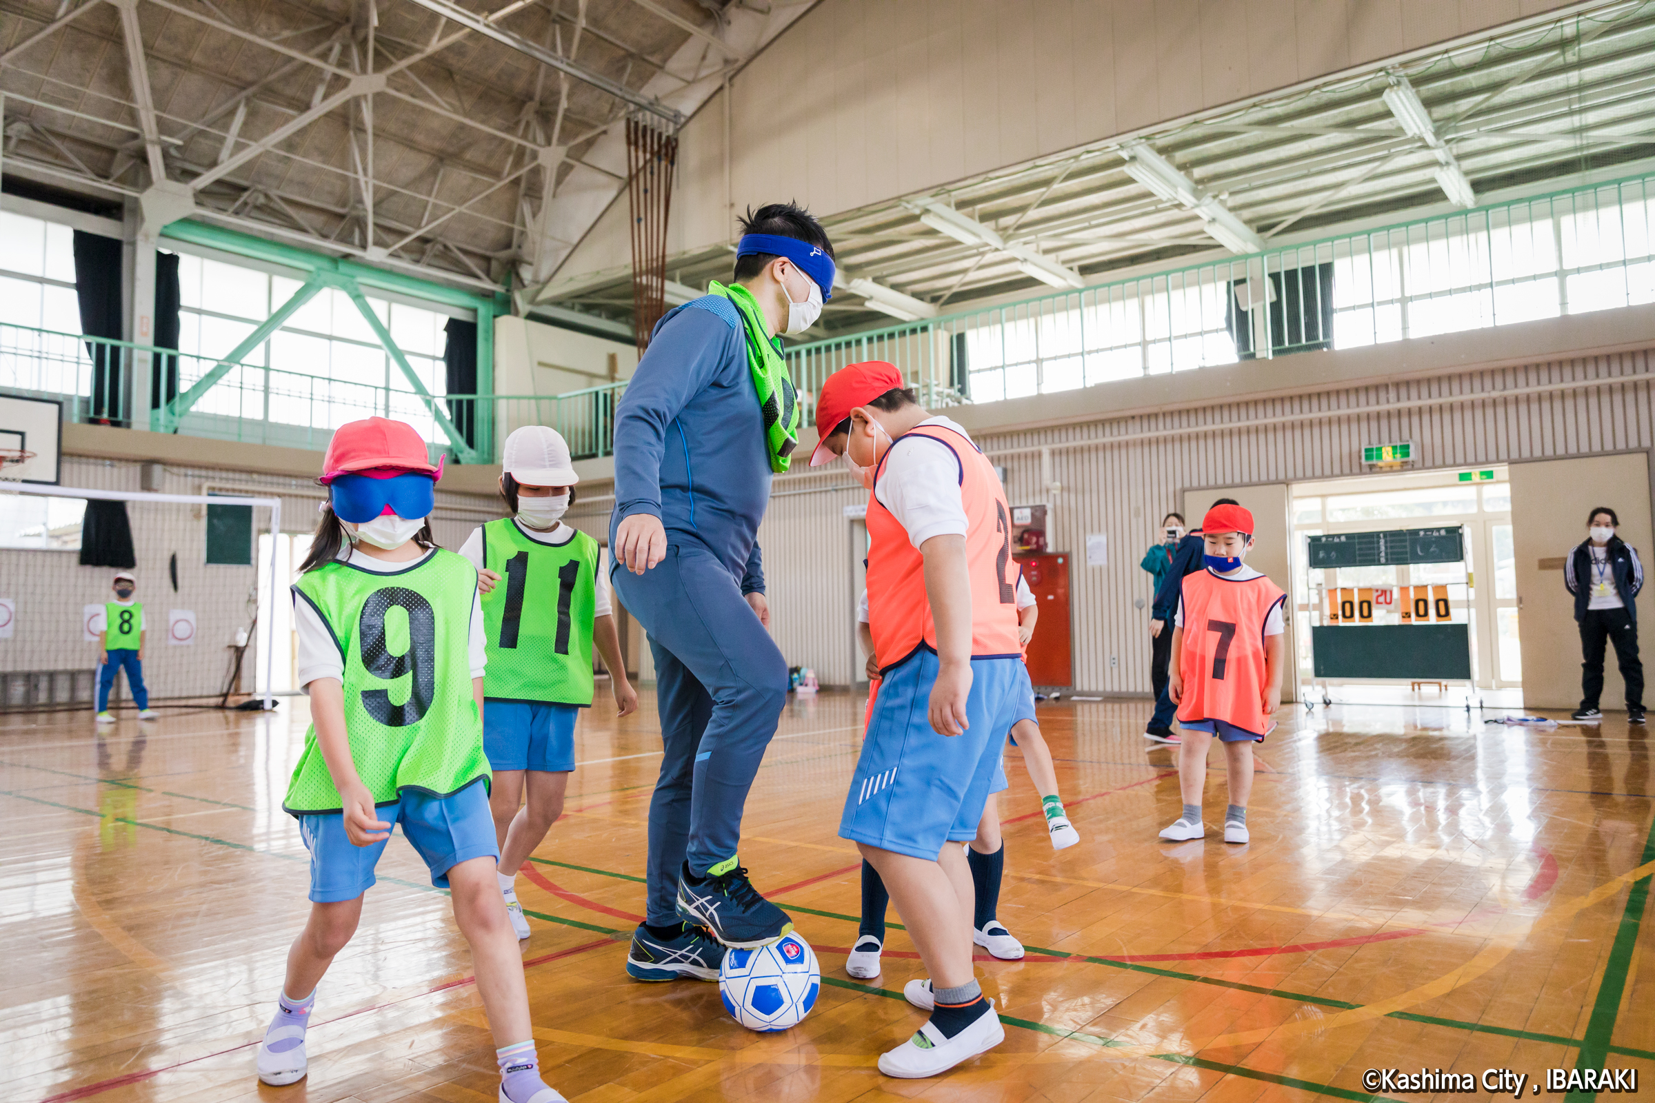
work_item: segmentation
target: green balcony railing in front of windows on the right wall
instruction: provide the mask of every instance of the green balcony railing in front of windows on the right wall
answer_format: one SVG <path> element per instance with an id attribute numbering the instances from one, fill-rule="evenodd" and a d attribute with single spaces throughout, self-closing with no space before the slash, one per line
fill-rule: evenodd
<path id="1" fill-rule="evenodd" d="M 890 361 L 995 402 L 1655 303 L 1655 175 L 801 344 L 801 392 Z"/>

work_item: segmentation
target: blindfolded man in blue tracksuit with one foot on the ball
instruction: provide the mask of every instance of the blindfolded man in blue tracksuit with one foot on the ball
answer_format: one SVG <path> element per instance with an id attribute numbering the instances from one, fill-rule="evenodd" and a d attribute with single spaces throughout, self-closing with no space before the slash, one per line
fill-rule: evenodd
<path id="1" fill-rule="evenodd" d="M 776 334 L 816 321 L 834 265 L 821 225 L 791 203 L 750 210 L 741 233 L 735 281 L 660 319 L 616 407 L 611 577 L 649 633 L 665 749 L 649 908 L 627 956 L 640 981 L 713 981 L 723 946 L 763 946 L 793 926 L 736 860 L 788 696 L 755 537 L 771 475 L 798 443 Z"/>

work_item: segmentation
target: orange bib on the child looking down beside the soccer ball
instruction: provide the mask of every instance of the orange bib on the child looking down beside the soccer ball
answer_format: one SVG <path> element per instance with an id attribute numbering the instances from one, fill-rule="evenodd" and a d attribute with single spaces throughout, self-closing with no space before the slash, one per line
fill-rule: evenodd
<path id="1" fill-rule="evenodd" d="M 930 437 L 960 461 L 965 562 L 971 575 L 971 658 L 1016 658 L 1023 653 L 1018 566 L 1011 562 L 1011 509 L 995 465 L 968 437 L 943 425 L 920 425 L 904 437 Z M 884 468 L 880 460 L 874 471 L 875 488 Z M 925 557 L 879 494 L 867 499 L 867 627 L 880 670 L 890 670 L 920 647 L 937 650 L 937 622 L 925 595 Z"/>

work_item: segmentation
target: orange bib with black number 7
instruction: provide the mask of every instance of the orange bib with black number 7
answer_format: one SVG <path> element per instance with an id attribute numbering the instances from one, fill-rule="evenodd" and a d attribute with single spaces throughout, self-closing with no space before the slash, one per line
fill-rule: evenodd
<path id="1" fill-rule="evenodd" d="M 1221 719 L 1264 734 L 1264 622 L 1288 600 L 1259 575 L 1245 582 L 1200 571 L 1183 579 L 1183 700 L 1178 719 Z M 1283 661 L 1288 657 L 1283 655 Z"/>

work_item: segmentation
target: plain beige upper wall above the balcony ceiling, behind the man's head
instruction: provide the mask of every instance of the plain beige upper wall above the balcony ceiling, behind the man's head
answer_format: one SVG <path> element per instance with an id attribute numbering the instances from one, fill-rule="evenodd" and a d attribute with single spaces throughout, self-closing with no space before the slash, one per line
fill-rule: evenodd
<path id="1" fill-rule="evenodd" d="M 682 134 L 669 255 L 730 212 L 819 215 L 1566 7 L 1561 0 L 824 0 Z M 559 276 L 631 263 L 626 195 Z"/>

